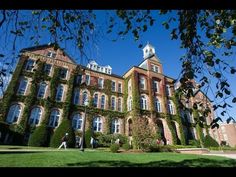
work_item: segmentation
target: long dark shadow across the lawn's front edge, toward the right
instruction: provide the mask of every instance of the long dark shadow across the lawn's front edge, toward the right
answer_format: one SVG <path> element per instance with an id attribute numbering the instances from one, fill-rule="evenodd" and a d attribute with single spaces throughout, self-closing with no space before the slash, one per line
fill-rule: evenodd
<path id="1" fill-rule="evenodd" d="M 131 163 L 129 161 L 92 161 L 68 163 L 69 167 L 236 167 L 235 160 L 211 160 L 205 158 L 174 162 L 169 160 L 152 161 L 149 163 Z"/>

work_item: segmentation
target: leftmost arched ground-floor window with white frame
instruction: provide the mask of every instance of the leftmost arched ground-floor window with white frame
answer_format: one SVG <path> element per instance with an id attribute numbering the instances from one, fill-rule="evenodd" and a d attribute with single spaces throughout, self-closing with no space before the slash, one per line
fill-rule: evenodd
<path id="1" fill-rule="evenodd" d="M 7 115 L 7 123 L 17 122 L 21 113 L 21 106 L 19 104 L 14 104 L 10 107 Z"/>

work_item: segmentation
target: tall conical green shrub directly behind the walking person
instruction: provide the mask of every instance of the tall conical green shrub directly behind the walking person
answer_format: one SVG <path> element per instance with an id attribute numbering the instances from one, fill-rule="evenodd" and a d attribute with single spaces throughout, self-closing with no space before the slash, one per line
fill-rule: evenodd
<path id="1" fill-rule="evenodd" d="M 61 138 L 65 135 L 65 133 L 69 134 L 67 146 L 75 147 L 75 133 L 71 127 L 71 122 L 68 119 L 63 120 L 59 127 L 55 130 L 50 141 L 50 146 L 58 147 L 61 144 Z"/>

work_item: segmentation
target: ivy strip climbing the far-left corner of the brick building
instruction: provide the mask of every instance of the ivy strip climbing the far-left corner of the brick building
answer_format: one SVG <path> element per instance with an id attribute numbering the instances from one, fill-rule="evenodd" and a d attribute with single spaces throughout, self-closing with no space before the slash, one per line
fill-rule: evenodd
<path id="1" fill-rule="evenodd" d="M 4 93 L 2 104 L 0 106 L 0 121 L 5 121 L 7 117 L 7 113 L 10 108 L 11 101 L 17 91 L 18 80 L 19 80 L 22 68 L 24 66 L 25 59 L 26 58 L 24 57 L 21 57 L 19 59 L 16 69 L 12 75 L 11 82 L 9 83 L 7 90 Z"/>

